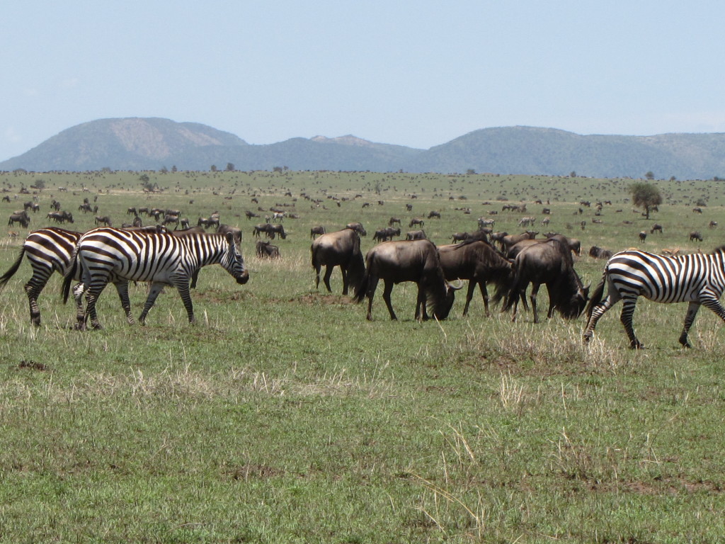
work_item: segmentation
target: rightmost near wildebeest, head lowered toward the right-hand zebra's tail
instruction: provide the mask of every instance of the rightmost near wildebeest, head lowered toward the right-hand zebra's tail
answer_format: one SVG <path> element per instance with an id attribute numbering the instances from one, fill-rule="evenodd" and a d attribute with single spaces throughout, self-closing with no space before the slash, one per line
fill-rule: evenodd
<path id="1" fill-rule="evenodd" d="M 589 286 L 584 287 L 579 274 L 574 270 L 571 250 L 558 239 L 548 239 L 540 244 L 532 244 L 519 253 L 514 260 L 515 277 L 508 293 L 508 300 L 503 310 L 513 307 L 513 318 L 516 318 L 518 299 L 526 292 L 531 283 L 531 309 L 534 311 L 534 323 L 539 323 L 537 313 L 537 293 L 541 284 L 546 284 L 549 293 L 549 311 L 547 318 L 554 315 L 554 310 L 567 319 L 579 317 L 584 311 L 589 294 Z"/>

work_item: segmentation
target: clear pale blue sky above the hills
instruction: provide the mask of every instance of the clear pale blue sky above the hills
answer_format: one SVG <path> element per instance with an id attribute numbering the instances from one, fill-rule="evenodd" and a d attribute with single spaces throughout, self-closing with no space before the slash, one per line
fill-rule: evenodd
<path id="1" fill-rule="evenodd" d="M 508 125 L 725 131 L 721 1 L 24 0 L 2 18 L 0 160 L 120 117 L 420 148 Z"/>

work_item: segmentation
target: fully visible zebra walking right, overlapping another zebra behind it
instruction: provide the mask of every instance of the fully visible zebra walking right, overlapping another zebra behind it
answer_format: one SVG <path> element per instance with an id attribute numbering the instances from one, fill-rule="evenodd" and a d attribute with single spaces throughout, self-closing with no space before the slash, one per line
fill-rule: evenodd
<path id="1" fill-rule="evenodd" d="M 128 281 L 149 281 L 152 287 L 138 318 L 144 323 L 162 288 L 172 285 L 181 296 L 189 323 L 194 323 L 189 279 L 202 266 L 212 264 L 222 265 L 238 284 L 246 284 L 249 280 L 244 259 L 231 232 L 173 236 L 96 228 L 78 240 L 70 270 L 63 281 L 63 300 L 68 298 L 73 276 L 80 273 L 81 285 L 73 290 L 73 296 L 78 303 L 86 294 L 86 310 L 80 306 L 77 327 L 86 329 L 90 319 L 91 326 L 100 329 L 96 300 L 107 284 L 114 283 L 118 289 L 119 285 L 128 285 Z M 128 291 L 126 298 L 128 300 Z"/>

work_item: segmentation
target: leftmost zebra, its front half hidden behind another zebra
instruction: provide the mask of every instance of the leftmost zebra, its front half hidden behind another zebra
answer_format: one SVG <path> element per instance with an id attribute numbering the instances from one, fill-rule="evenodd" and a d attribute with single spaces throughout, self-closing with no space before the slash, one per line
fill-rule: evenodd
<path id="1" fill-rule="evenodd" d="M 141 230 L 150 232 L 157 231 L 157 228 L 157 226 L 142 227 Z M 33 325 L 41 325 L 41 310 L 38 307 L 38 297 L 40 297 L 54 272 L 65 276 L 72 260 L 75 244 L 78 243 L 80 236 L 82 236 L 80 232 L 67 231 L 65 228 L 57 227 L 40 228 L 31 232 L 22 244 L 20 255 L 17 256 L 9 270 L 0 276 L 1 291 L 20 268 L 22 257 L 28 257 L 30 268 L 33 269 L 33 276 L 30 276 L 23 289 L 25 289 L 25 294 L 28 295 L 30 323 L 33 323 Z M 73 279 L 79 280 L 80 275 L 76 274 Z M 123 304 L 123 298 L 121 302 Z M 130 316 L 130 308 L 127 318 L 128 316 Z M 131 316 L 131 319 L 133 319 L 133 316 Z"/>

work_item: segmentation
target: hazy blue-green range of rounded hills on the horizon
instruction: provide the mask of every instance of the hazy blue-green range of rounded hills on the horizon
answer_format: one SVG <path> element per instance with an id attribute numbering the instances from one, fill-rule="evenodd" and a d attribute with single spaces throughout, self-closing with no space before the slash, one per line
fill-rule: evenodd
<path id="1" fill-rule="evenodd" d="M 430 149 L 355 136 L 248 144 L 199 123 L 162 118 L 89 121 L 67 128 L 0 170 L 370 170 L 503 173 L 597 178 L 725 177 L 725 133 L 580 135 L 555 128 L 482 128 Z"/>

